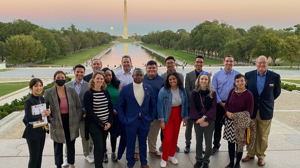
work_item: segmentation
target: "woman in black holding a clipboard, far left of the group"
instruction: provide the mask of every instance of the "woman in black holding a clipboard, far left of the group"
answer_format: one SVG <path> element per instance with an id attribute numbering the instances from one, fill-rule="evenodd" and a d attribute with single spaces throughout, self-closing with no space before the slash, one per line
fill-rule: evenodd
<path id="1" fill-rule="evenodd" d="M 29 89 L 31 95 L 25 100 L 25 120 L 27 122 L 22 138 L 26 139 L 29 150 L 29 163 L 28 168 L 40 168 L 42 151 L 45 144 L 46 131 L 44 127 L 33 128 L 32 122 L 40 121 L 43 117 L 49 116 L 49 109 L 40 111 L 38 115 L 32 115 L 31 106 L 44 103 L 42 96 L 39 96 L 42 92 L 42 81 L 37 78 L 31 79 L 29 82 Z"/>

